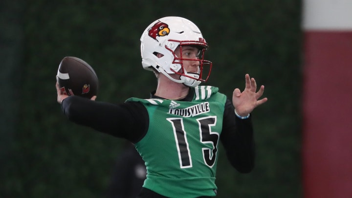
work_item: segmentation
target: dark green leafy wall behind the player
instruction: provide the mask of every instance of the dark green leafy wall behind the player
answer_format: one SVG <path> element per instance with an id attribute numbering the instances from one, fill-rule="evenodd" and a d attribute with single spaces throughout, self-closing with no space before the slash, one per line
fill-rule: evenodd
<path id="1" fill-rule="evenodd" d="M 70 123 L 56 102 L 65 56 L 96 71 L 97 100 L 148 98 L 140 36 L 156 19 L 195 22 L 213 62 L 206 85 L 231 96 L 249 73 L 269 101 L 253 112 L 256 167 L 218 164 L 219 198 L 302 197 L 302 2 L 299 0 L 3 0 L 0 2 L 0 197 L 104 197 L 124 140 Z M 220 150 L 220 152 L 222 152 Z"/>

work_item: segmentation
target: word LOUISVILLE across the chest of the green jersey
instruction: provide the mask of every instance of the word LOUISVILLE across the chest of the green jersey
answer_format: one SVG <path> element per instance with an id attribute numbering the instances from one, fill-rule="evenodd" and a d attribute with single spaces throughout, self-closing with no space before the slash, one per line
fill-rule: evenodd
<path id="1" fill-rule="evenodd" d="M 170 109 L 169 113 L 174 115 L 179 115 L 182 117 L 194 117 L 196 115 L 206 113 L 209 111 L 210 111 L 209 103 L 204 102 L 185 109 Z"/>

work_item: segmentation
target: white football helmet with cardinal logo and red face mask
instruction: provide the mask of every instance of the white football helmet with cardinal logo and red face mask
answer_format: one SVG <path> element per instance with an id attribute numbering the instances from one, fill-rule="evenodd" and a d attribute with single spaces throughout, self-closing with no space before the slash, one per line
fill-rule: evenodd
<path id="1" fill-rule="evenodd" d="M 193 22 L 181 17 L 164 17 L 151 23 L 141 37 L 141 56 L 144 69 L 152 70 L 153 67 L 163 73 L 170 80 L 183 83 L 188 87 L 196 87 L 209 78 L 212 63 L 204 60 L 204 51 L 208 48 L 199 28 Z M 176 47 L 192 45 L 200 49 L 198 59 L 183 59 L 175 54 Z M 163 56 L 157 57 L 160 53 Z M 198 73 L 187 73 L 183 68 L 183 60 L 199 61 Z M 203 66 L 209 66 L 207 76 L 202 78 Z M 180 79 L 174 79 L 169 74 L 179 74 Z"/>

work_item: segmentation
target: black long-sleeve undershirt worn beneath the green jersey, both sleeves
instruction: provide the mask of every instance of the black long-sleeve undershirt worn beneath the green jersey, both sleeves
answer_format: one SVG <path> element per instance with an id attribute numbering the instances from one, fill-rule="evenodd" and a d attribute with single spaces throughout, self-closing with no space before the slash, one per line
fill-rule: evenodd
<path id="1" fill-rule="evenodd" d="M 184 100 L 189 100 L 189 97 Z M 142 139 L 149 128 L 148 112 L 139 102 L 111 104 L 70 96 L 62 102 L 62 109 L 66 117 L 76 124 L 125 138 L 132 143 Z M 225 104 L 220 140 L 228 160 L 237 171 L 249 173 L 254 168 L 251 118 L 238 118 L 230 100 Z"/>

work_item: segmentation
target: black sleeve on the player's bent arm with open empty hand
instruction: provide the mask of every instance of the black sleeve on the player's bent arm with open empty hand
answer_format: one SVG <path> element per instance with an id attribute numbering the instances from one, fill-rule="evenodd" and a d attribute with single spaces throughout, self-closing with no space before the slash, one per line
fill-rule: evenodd
<path id="1" fill-rule="evenodd" d="M 251 116 L 240 119 L 227 99 L 220 140 L 231 165 L 240 173 L 249 173 L 254 168 L 255 145 Z"/>

